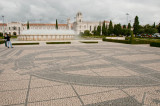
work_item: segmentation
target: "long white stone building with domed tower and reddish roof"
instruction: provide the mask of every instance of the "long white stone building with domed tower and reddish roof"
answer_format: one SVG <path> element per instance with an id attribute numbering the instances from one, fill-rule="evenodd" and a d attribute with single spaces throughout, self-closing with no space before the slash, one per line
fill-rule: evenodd
<path id="1" fill-rule="evenodd" d="M 105 21 L 106 25 L 109 25 L 108 21 Z M 80 32 L 84 32 L 85 30 L 89 30 L 91 33 L 94 30 L 94 27 L 102 26 L 102 22 L 89 22 L 83 21 L 83 15 L 81 12 L 78 12 L 76 15 L 76 20 L 73 23 L 70 23 L 70 19 L 67 20 L 67 24 L 58 24 L 58 29 L 62 30 L 74 30 L 76 34 Z M 30 29 L 56 29 L 56 24 L 41 24 L 41 23 L 30 23 Z M 3 27 L 5 33 L 10 35 L 21 35 L 21 32 L 27 30 L 27 24 L 20 22 L 11 22 L 11 23 L 0 23 L 0 32 L 3 33 Z"/>

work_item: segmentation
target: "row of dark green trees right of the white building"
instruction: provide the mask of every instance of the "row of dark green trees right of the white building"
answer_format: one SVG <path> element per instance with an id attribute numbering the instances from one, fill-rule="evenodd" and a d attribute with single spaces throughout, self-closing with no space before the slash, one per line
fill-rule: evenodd
<path id="1" fill-rule="evenodd" d="M 105 25 L 105 21 L 103 22 L 102 26 L 95 27 L 92 31 L 93 35 L 124 35 L 129 36 L 131 33 L 138 35 L 138 34 L 154 34 L 154 33 L 160 33 L 160 24 L 155 25 L 139 25 L 139 19 L 138 16 L 135 17 L 134 24 L 133 24 L 133 30 L 130 23 L 128 25 L 121 25 L 121 24 L 115 24 L 113 26 L 112 21 L 110 21 L 109 26 Z M 84 31 L 83 35 L 92 35 L 89 30 Z"/>

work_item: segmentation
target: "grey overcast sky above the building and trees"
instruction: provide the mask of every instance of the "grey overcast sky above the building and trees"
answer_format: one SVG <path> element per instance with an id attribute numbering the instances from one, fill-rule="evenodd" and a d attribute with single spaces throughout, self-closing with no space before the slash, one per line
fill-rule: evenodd
<path id="1" fill-rule="evenodd" d="M 74 21 L 76 13 L 83 14 L 83 20 L 113 23 L 133 23 L 139 16 L 140 24 L 160 23 L 160 0 L 0 0 L 0 15 L 5 22 L 29 20 L 33 23 L 66 23 Z M 2 22 L 2 17 L 0 17 Z"/>

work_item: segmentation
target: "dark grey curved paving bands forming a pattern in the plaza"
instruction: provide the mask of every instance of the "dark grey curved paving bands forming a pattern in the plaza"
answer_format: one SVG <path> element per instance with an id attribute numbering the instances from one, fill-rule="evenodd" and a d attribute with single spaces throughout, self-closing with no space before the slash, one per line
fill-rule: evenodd
<path id="1" fill-rule="evenodd" d="M 81 48 L 81 47 L 72 47 L 78 50 L 81 50 L 85 53 L 88 53 L 88 56 L 80 56 L 80 57 L 52 57 L 51 60 L 70 60 L 72 61 L 72 63 L 74 64 L 78 64 L 78 63 L 83 63 L 85 61 L 92 61 L 92 60 L 96 60 L 99 59 L 99 57 L 96 57 L 97 55 L 101 55 L 96 53 L 95 51 L 90 51 L 87 50 L 86 48 Z M 49 50 L 49 51 L 42 51 L 37 53 L 31 53 L 28 54 L 20 59 L 17 60 L 17 67 L 20 69 L 32 69 L 33 67 L 35 67 L 34 61 L 35 61 L 35 56 L 39 55 L 39 54 L 47 54 L 48 52 L 55 52 L 54 49 Z M 124 54 L 123 54 L 124 55 Z M 102 56 L 102 55 L 101 55 Z M 91 58 L 92 57 L 92 58 Z M 60 82 L 66 82 L 66 83 L 74 83 L 74 84 L 82 84 L 82 85 L 94 85 L 94 86 L 151 86 L 151 85 L 158 85 L 160 84 L 160 80 L 156 79 L 153 76 L 146 76 L 145 73 L 156 73 L 155 70 L 151 70 L 151 69 L 147 69 L 144 68 L 142 66 L 139 66 L 137 64 L 131 64 L 131 63 L 127 63 L 124 62 L 122 63 L 121 60 L 117 60 L 114 57 L 110 56 L 110 57 L 104 57 L 102 56 L 101 58 L 103 58 L 104 60 L 108 60 L 111 62 L 114 62 L 115 66 L 116 65 L 121 65 L 123 67 L 129 68 L 129 69 L 135 69 L 136 67 L 136 72 L 140 73 L 140 76 L 127 76 L 127 77 L 102 77 L 102 76 L 89 76 L 89 75 L 74 75 L 74 74 L 67 74 L 65 73 L 65 69 L 73 69 L 75 67 L 70 66 L 70 63 L 66 63 L 66 65 L 64 64 L 57 64 L 55 63 L 46 63 L 48 64 L 48 68 L 43 69 L 43 70 L 39 70 L 39 71 L 31 71 L 28 72 L 27 74 L 32 74 L 35 76 L 39 76 L 39 77 L 43 77 L 46 79 L 50 79 L 50 80 L 56 80 L 56 81 L 60 81 Z M 45 60 L 49 59 L 49 58 L 43 58 Z M 41 60 L 39 60 L 41 61 Z M 101 66 L 97 66 L 97 68 L 100 68 Z M 78 68 L 83 69 L 83 66 L 79 66 Z M 91 68 L 91 67 L 90 67 Z M 95 67 L 92 67 L 95 68 Z M 44 71 L 45 70 L 45 71 Z M 76 70 L 75 70 L 76 71 Z"/>

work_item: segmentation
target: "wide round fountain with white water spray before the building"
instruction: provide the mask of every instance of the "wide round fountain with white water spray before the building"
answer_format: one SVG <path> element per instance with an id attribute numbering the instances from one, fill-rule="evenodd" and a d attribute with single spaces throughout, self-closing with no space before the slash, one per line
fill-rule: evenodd
<path id="1" fill-rule="evenodd" d="M 51 40 L 73 40 L 75 33 L 73 30 L 36 30 L 30 29 L 22 31 L 18 36 L 20 41 L 51 41 Z"/>

